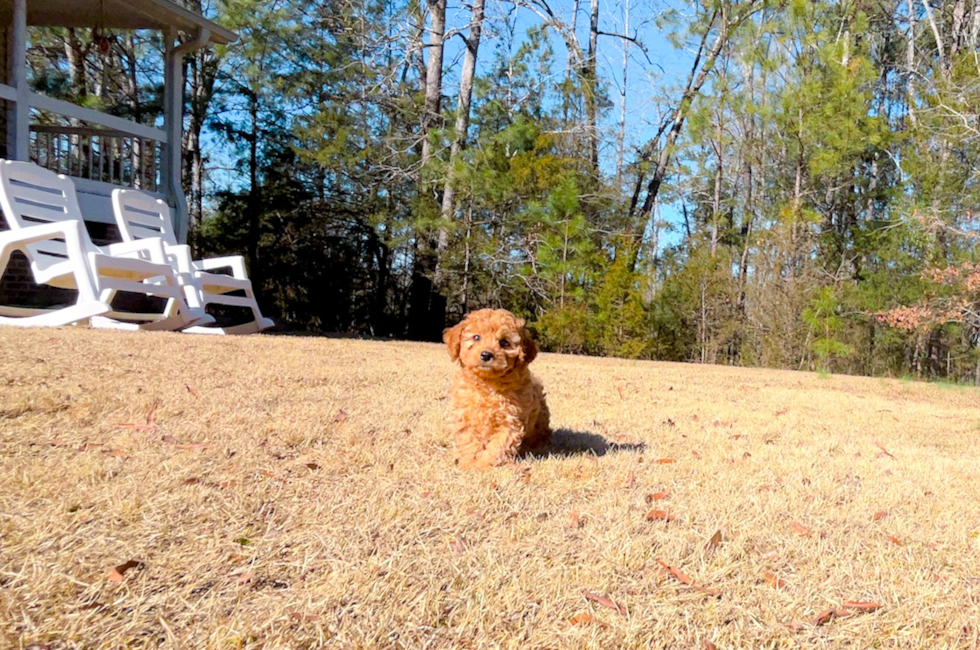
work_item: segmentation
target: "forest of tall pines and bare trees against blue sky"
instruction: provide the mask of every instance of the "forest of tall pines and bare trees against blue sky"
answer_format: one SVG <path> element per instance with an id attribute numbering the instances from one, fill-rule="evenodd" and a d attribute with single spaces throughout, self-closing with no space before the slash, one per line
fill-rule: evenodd
<path id="1" fill-rule="evenodd" d="M 191 243 L 286 328 L 980 382 L 980 0 L 184 4 L 241 35 L 185 60 Z M 152 123 L 154 38 L 33 82 Z"/>

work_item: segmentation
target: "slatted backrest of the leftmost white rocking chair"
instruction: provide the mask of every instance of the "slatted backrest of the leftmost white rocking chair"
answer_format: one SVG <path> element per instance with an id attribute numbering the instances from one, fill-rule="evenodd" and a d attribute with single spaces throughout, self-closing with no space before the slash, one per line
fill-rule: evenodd
<path id="1" fill-rule="evenodd" d="M 57 221 L 84 223 L 71 179 L 33 163 L 0 159 L 0 207 L 11 230 Z M 82 238 L 82 246 L 97 250 L 88 237 Z M 68 259 L 60 240 L 27 244 L 25 248 L 31 264 L 41 268 Z"/>

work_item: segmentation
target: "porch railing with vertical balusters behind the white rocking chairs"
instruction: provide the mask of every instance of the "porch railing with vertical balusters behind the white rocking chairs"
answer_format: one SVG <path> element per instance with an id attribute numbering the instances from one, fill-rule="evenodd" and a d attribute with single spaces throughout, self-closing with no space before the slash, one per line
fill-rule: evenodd
<path id="1" fill-rule="evenodd" d="M 163 184 L 159 140 L 87 126 L 32 124 L 30 132 L 31 162 L 53 172 L 151 192 Z"/>

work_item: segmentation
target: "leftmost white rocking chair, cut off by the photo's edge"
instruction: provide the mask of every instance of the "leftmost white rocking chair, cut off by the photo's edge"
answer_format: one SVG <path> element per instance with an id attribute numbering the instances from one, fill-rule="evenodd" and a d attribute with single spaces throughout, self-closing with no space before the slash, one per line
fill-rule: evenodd
<path id="1" fill-rule="evenodd" d="M 4 232 L 4 255 L 22 244 L 38 284 L 77 289 L 78 303 L 62 317 L 96 311 L 108 306 L 117 291 L 144 294 L 167 301 L 160 313 L 134 313 L 109 308 L 91 316 L 93 327 L 173 330 L 206 316 L 184 301 L 177 279 L 167 265 L 163 243 L 158 240 L 112 244 L 100 248 L 85 229 L 75 185 L 71 179 L 26 162 L 0 160 L 0 207 L 10 227 Z M 43 224 L 43 225 L 39 225 Z M 47 230 L 36 230 L 47 228 Z M 28 233 L 44 233 L 37 238 Z M 25 239 L 18 241 L 18 237 Z M 0 260 L 6 264 L 4 255 Z M 147 261 L 149 258 L 150 261 Z M 94 292 L 99 293 L 93 300 Z M 7 314 L 17 308 L 6 308 Z M 54 324 L 54 314 L 21 310 L 24 325 Z M 47 316 L 48 318 L 39 318 Z M 35 318 L 28 322 L 27 318 Z M 8 321 L 9 322 L 9 318 Z M 18 319 L 20 320 L 20 319 Z"/>

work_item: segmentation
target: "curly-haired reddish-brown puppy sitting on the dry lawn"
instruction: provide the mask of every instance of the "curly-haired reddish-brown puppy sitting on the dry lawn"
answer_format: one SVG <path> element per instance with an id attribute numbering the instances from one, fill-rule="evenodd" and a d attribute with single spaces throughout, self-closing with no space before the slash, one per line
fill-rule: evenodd
<path id="1" fill-rule="evenodd" d="M 442 340 L 459 365 L 452 410 L 460 467 L 502 465 L 548 441 L 544 389 L 527 369 L 538 346 L 522 319 L 505 309 L 480 309 L 445 330 Z"/>

